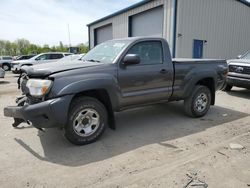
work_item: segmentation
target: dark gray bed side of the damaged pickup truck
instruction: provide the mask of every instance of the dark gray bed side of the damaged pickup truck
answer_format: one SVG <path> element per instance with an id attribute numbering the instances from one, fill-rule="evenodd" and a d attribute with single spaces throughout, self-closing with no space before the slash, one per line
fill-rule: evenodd
<path id="1" fill-rule="evenodd" d="M 183 99 L 190 93 L 190 85 L 200 78 L 213 78 L 216 90 L 221 89 L 227 72 L 226 60 L 174 58 L 174 84 L 172 98 Z M 197 80 L 198 79 L 198 80 Z"/>

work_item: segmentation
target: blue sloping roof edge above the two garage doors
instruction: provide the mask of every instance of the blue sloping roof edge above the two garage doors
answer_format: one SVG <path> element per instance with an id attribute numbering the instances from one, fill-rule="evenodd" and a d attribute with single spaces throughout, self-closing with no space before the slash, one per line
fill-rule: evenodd
<path id="1" fill-rule="evenodd" d="M 107 19 L 109 19 L 109 18 L 112 18 L 112 17 L 114 17 L 114 16 L 117 16 L 117 15 L 119 15 L 119 14 L 122 14 L 122 13 L 124 13 L 124 12 L 126 12 L 126 11 L 129 11 L 129 10 L 131 10 L 131 9 L 134 9 L 134 8 L 137 8 L 137 7 L 142 6 L 142 5 L 144 5 L 144 4 L 147 4 L 147 3 L 150 2 L 150 1 L 152 1 L 152 0 L 143 0 L 143 1 L 140 1 L 140 2 L 135 3 L 135 4 L 133 4 L 133 5 L 129 6 L 129 7 L 127 7 L 127 8 L 124 8 L 124 9 L 121 9 L 121 10 L 119 10 L 119 11 L 117 11 L 117 12 L 114 12 L 113 14 L 109 14 L 109 15 L 103 17 L 103 18 L 100 18 L 100 19 L 98 19 L 98 20 L 96 20 L 96 21 L 94 21 L 94 22 L 91 22 L 91 23 L 87 24 L 87 26 L 89 27 L 89 26 L 91 26 L 91 25 L 93 25 L 93 24 L 96 24 L 96 23 L 98 23 L 98 22 L 107 20 Z"/>

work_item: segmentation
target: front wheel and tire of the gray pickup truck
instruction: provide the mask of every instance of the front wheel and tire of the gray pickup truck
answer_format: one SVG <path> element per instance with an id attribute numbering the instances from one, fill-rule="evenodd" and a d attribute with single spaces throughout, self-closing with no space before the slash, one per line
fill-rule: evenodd
<path id="1" fill-rule="evenodd" d="M 104 133 L 107 119 L 107 110 L 97 99 L 76 98 L 70 107 L 65 137 L 75 145 L 95 142 Z"/>

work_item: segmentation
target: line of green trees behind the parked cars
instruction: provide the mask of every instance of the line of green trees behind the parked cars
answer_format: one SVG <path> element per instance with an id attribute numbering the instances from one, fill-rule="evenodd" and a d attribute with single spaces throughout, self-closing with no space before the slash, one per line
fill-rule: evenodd
<path id="1" fill-rule="evenodd" d="M 88 52 L 88 45 L 79 44 L 79 53 Z M 47 44 L 40 46 L 30 43 L 27 39 L 17 39 L 14 42 L 8 40 L 0 40 L 0 55 L 28 55 L 39 54 L 44 52 L 69 52 L 69 47 L 63 45 L 62 42 L 58 46 L 49 46 Z"/>

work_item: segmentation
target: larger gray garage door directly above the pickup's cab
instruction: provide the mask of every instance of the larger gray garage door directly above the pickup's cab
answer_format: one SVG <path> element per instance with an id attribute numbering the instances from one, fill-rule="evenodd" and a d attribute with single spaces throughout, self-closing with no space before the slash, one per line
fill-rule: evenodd
<path id="1" fill-rule="evenodd" d="M 129 36 L 162 36 L 163 7 L 157 7 L 129 18 Z"/>

